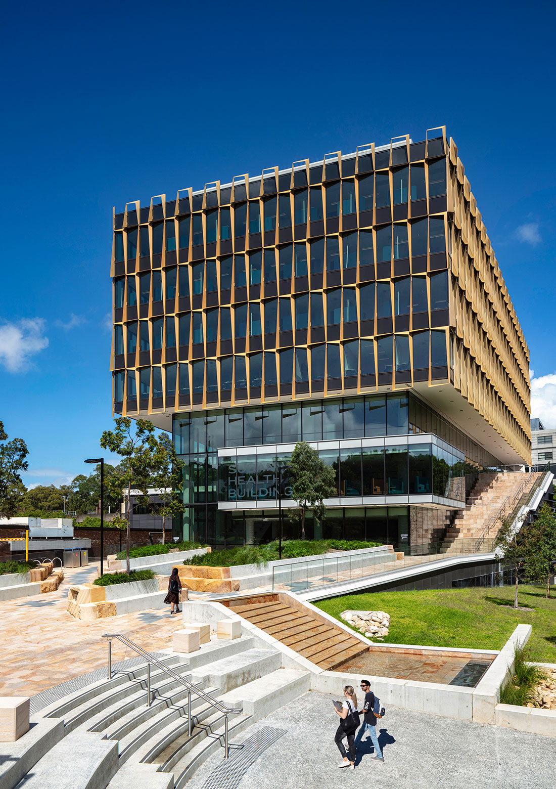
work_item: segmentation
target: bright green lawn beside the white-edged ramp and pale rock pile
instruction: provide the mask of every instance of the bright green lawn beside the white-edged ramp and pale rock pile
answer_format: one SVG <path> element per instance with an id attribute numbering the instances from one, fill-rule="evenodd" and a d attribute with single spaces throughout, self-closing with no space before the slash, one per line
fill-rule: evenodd
<path id="1" fill-rule="evenodd" d="M 540 587 L 520 586 L 519 604 L 532 611 L 505 607 L 513 604 L 510 586 L 353 594 L 315 605 L 337 619 L 348 608 L 386 611 L 391 619 L 384 643 L 391 644 L 501 649 L 516 625 L 530 624 L 529 660 L 556 663 L 556 591 L 552 594 L 547 600 Z"/>

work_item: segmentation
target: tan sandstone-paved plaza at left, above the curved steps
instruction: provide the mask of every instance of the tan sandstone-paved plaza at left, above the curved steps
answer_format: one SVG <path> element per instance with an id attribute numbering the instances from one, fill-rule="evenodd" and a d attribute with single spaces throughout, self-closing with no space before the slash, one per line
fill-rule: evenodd
<path id="1" fill-rule="evenodd" d="M 0 604 L 0 696 L 32 696 L 67 679 L 107 665 L 103 633 L 115 630 L 144 649 L 169 649 L 181 616 L 170 607 L 140 611 L 95 622 L 73 619 L 65 610 L 70 585 L 96 578 L 97 565 L 65 569 L 56 592 L 21 597 Z M 117 641 L 114 663 L 136 656 Z"/>

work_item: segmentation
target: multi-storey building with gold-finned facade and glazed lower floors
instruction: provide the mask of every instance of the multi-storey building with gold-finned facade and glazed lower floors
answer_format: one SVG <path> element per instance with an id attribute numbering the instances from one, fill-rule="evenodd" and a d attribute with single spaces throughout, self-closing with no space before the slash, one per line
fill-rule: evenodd
<path id="1" fill-rule="evenodd" d="M 336 472 L 308 536 L 402 546 L 530 461 L 528 347 L 444 128 L 128 203 L 111 275 L 114 412 L 172 431 L 176 536 L 275 537 L 300 439 Z"/>

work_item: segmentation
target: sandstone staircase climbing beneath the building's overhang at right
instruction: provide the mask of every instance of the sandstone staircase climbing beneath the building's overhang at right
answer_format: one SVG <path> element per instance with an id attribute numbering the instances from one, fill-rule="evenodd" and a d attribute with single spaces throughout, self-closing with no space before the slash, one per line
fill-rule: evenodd
<path id="1" fill-rule="evenodd" d="M 476 541 L 485 537 L 494 539 L 500 520 L 506 518 L 521 496 L 531 491 L 542 473 L 506 471 L 480 474 L 469 495 L 465 510 L 456 515 L 446 530 L 442 545 L 445 553 L 471 553 Z"/>

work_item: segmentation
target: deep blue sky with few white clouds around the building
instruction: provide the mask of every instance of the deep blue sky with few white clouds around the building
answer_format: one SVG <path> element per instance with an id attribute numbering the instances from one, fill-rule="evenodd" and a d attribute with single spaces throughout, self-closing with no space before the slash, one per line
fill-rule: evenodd
<path id="1" fill-rule="evenodd" d="M 556 426 L 554 6 L 58 2 L 3 17 L 0 419 L 26 484 L 110 428 L 112 206 L 446 124 Z"/>

